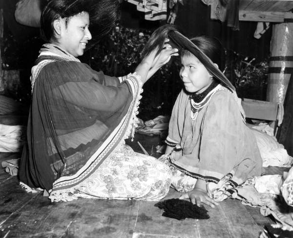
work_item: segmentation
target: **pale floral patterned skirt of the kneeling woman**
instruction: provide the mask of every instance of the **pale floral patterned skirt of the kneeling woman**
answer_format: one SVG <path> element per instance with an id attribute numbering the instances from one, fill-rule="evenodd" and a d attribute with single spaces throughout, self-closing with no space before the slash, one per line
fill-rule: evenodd
<path id="1" fill-rule="evenodd" d="M 122 145 L 79 187 L 79 197 L 160 200 L 171 184 L 170 168 Z"/>

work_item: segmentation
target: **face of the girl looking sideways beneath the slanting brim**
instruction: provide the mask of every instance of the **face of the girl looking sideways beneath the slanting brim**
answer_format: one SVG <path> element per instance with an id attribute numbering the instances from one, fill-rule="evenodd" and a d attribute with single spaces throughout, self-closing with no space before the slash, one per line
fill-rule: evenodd
<path id="1" fill-rule="evenodd" d="M 181 57 L 180 77 L 189 93 L 202 93 L 212 82 L 206 67 L 193 55 Z"/>

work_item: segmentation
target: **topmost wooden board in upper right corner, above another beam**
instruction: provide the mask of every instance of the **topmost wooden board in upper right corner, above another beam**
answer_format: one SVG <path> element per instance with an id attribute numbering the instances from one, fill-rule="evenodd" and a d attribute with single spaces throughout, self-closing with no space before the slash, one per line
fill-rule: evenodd
<path id="1" fill-rule="evenodd" d="M 239 10 L 260 12 L 287 12 L 293 8 L 292 0 L 240 0 Z"/>

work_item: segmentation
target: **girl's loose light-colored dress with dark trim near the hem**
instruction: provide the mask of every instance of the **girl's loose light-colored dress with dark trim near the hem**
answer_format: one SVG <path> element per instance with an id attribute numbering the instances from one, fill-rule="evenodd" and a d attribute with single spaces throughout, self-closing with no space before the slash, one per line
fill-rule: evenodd
<path id="1" fill-rule="evenodd" d="M 261 174 L 259 149 L 235 95 L 218 85 L 194 119 L 189 95 L 178 95 L 167 137 L 167 143 L 182 148 L 176 161 L 167 156 L 177 190 L 192 190 L 197 179 L 214 184 L 223 180 L 235 187 Z"/>

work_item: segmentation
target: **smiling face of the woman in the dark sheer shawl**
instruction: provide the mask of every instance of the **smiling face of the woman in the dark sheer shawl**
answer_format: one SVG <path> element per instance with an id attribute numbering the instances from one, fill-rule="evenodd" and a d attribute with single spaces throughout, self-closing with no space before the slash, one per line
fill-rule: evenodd
<path id="1" fill-rule="evenodd" d="M 89 15 L 87 12 L 81 12 L 69 18 L 67 27 L 65 27 L 65 20 L 62 19 L 60 47 L 75 57 L 83 55 L 85 46 L 91 39 L 88 26 Z"/>

